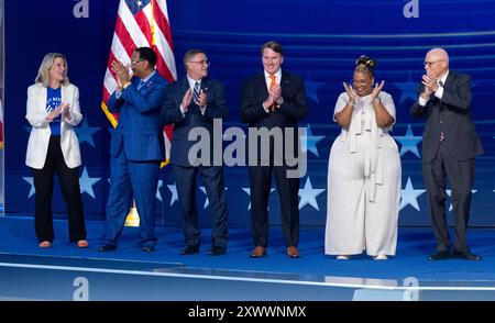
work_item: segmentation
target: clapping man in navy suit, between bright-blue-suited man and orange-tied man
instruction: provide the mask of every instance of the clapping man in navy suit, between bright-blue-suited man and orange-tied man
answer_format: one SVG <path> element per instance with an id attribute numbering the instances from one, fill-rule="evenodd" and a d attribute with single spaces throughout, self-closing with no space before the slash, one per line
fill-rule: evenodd
<path id="1" fill-rule="evenodd" d="M 165 103 L 162 108 L 163 122 L 174 124 L 170 164 L 177 183 L 186 238 L 186 246 L 180 254 L 199 253 L 200 232 L 196 203 L 196 177 L 199 174 L 205 183 L 213 220 L 211 248 L 208 255 L 223 255 L 227 252 L 228 243 L 228 211 L 222 163 L 213 164 L 215 153 L 217 155 L 222 153 L 221 145 L 219 152 L 213 152 L 213 120 L 226 118 L 229 109 L 226 104 L 223 86 L 207 77 L 210 64 L 204 51 L 188 51 L 184 56 L 184 65 L 186 77 L 167 88 Z M 197 134 L 206 133 L 209 137 L 209 152 L 200 152 L 201 156 L 194 153 L 194 146 L 198 142 L 188 140 L 195 132 Z M 221 136 L 221 129 L 219 135 Z"/>

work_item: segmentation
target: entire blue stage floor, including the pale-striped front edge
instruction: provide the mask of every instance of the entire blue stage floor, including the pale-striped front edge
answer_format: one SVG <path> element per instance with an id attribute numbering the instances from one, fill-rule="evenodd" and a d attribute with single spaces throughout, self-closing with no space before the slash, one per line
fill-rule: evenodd
<path id="1" fill-rule="evenodd" d="M 55 221 L 53 248 L 41 249 L 31 216 L 0 218 L 0 299 L 3 300 L 495 300 L 495 229 L 471 229 L 481 261 L 428 261 L 429 227 L 399 229 L 397 256 L 348 261 L 323 254 L 323 227 L 300 232 L 301 258 L 285 255 L 282 230 L 271 227 L 268 256 L 253 259 L 250 231 L 230 229 L 224 256 L 178 254 L 179 227 L 157 227 L 155 253 L 143 253 L 139 232 L 125 227 L 116 252 L 99 253 L 102 222 L 88 222 L 89 248 L 68 243 L 67 222 Z M 260 292 L 262 290 L 263 292 Z M 235 291 L 235 292 L 234 292 Z M 242 291 L 242 292 L 239 292 Z"/>

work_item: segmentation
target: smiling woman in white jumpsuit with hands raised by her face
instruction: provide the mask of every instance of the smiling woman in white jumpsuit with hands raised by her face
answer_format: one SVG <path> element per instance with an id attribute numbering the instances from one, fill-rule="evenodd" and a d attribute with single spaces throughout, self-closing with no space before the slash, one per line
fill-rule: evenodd
<path id="1" fill-rule="evenodd" d="M 376 62 L 356 60 L 354 88 L 337 100 L 333 120 L 342 126 L 328 166 L 324 253 L 338 259 L 366 254 L 374 259 L 395 255 L 400 203 L 400 157 L 388 135 L 395 123 L 391 94 L 374 83 Z"/>

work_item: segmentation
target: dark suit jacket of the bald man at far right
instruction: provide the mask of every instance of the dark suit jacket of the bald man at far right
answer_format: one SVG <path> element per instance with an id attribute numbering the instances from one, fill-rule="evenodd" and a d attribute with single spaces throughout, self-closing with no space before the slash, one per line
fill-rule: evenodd
<path id="1" fill-rule="evenodd" d="M 424 89 L 425 86 L 420 85 L 418 93 Z M 455 160 L 468 160 L 483 154 L 471 116 L 471 77 L 450 70 L 441 100 L 432 94 L 426 107 L 415 102 L 411 114 L 427 118 L 422 134 L 424 163 L 435 158 L 440 146 L 440 132 L 443 132 L 444 144 Z"/>

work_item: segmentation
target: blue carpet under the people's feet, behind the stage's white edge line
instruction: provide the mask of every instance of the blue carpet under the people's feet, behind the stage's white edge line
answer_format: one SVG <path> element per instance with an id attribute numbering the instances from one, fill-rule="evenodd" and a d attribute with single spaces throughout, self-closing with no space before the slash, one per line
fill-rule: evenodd
<path id="1" fill-rule="evenodd" d="M 449 259 L 428 261 L 427 256 L 435 249 L 433 236 L 429 227 L 399 229 L 397 256 L 387 261 L 374 261 L 363 255 L 349 261 L 338 261 L 323 254 L 323 227 L 302 227 L 300 232 L 299 259 L 285 255 L 280 227 L 271 227 L 268 256 L 252 259 L 249 229 L 230 229 L 228 254 L 219 257 L 207 255 L 209 230 L 202 230 L 201 252 L 198 255 L 182 256 L 184 238 L 179 227 L 157 227 L 158 245 L 155 253 L 143 253 L 139 246 L 139 232 L 125 227 L 116 252 L 99 253 L 97 247 L 103 235 L 103 222 L 87 222 L 89 248 L 79 249 L 68 243 L 67 222 L 55 221 L 55 242 L 53 248 L 41 249 L 34 235 L 31 216 L 0 216 L 0 254 L 37 255 L 67 258 L 91 259 L 92 264 L 102 260 L 130 260 L 143 263 L 143 268 L 160 264 L 177 264 L 186 268 L 215 268 L 220 270 L 264 271 L 273 274 L 296 274 L 308 276 L 342 276 L 381 279 L 404 279 L 416 277 L 420 280 L 495 280 L 495 229 L 470 229 L 469 242 L 474 253 L 483 255 L 481 261 Z M 98 263 L 101 260 L 101 263 Z M 58 260 L 59 261 L 59 260 Z M 148 264 L 147 263 L 154 263 Z M 98 265 L 99 266 L 99 265 Z"/>

